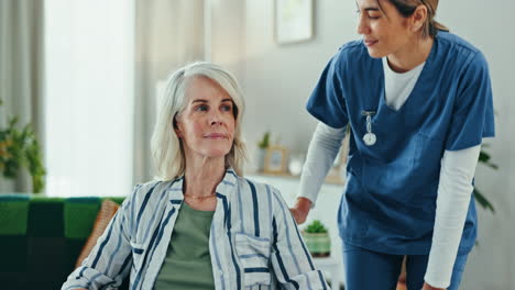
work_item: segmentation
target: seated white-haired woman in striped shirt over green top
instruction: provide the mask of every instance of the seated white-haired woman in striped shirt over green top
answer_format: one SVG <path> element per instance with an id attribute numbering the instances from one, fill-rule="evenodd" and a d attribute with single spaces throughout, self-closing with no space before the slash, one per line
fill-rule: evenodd
<path id="1" fill-rule="evenodd" d="M 168 80 L 152 137 L 158 181 L 138 186 L 62 289 L 328 289 L 281 193 L 242 175 L 243 100 L 228 71 Z"/>

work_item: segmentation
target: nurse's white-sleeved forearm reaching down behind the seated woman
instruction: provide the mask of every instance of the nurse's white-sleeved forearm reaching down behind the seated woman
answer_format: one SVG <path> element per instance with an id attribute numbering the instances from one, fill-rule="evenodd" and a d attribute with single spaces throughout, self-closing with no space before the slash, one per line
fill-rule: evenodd
<path id="1" fill-rule="evenodd" d="M 346 136 L 346 127 L 333 129 L 324 123 L 318 123 L 304 164 L 300 176 L 299 198 L 309 199 L 315 207 L 318 192 L 326 180 L 327 172 L 331 168 L 341 142 Z"/>

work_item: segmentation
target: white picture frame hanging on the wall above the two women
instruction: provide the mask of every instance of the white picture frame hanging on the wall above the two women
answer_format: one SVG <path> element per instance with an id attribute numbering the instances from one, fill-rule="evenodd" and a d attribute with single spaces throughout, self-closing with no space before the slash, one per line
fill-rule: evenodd
<path id="1" fill-rule="evenodd" d="M 275 41 L 293 44 L 314 37 L 314 0 L 274 0 Z"/>

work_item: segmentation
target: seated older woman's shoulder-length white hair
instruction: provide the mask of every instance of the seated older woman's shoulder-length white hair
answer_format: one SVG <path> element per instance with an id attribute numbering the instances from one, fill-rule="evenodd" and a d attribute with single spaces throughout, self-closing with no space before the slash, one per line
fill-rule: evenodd
<path id="1" fill-rule="evenodd" d="M 231 98 L 234 107 L 234 140 L 231 150 L 226 155 L 226 167 L 243 175 L 245 146 L 241 140 L 241 119 L 243 115 L 243 94 L 237 79 L 222 67 L 197 62 L 188 64 L 173 72 L 166 83 L 161 109 L 157 113 L 151 148 L 158 180 L 172 180 L 184 175 L 186 158 L 180 140 L 175 134 L 175 116 L 186 108 L 186 88 L 188 80 L 206 77 L 218 83 Z"/>

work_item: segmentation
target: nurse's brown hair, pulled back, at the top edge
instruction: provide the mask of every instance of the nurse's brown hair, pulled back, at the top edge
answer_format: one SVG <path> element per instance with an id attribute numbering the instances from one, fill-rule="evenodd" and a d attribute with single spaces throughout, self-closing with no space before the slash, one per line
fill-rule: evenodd
<path id="1" fill-rule="evenodd" d="M 449 31 L 447 26 L 435 20 L 438 0 L 386 0 L 390 1 L 404 18 L 410 16 L 418 5 L 427 8 L 426 22 L 423 25 L 423 37 L 436 36 L 438 31 Z M 381 7 L 380 0 L 377 3 Z"/>

